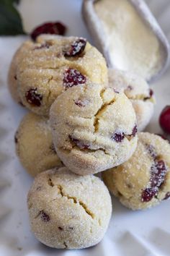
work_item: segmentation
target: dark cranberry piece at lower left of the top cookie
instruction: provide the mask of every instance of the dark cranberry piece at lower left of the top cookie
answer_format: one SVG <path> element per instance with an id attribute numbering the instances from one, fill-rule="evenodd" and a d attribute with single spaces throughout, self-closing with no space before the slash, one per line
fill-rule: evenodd
<path id="1" fill-rule="evenodd" d="M 30 90 L 27 90 L 27 93 L 25 93 L 25 98 L 31 105 L 41 106 L 42 95 L 37 93 L 37 88 L 31 88 Z"/>

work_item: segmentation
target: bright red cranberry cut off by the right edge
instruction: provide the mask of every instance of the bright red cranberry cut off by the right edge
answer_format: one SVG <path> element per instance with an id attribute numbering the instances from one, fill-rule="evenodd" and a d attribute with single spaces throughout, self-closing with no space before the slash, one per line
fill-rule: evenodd
<path id="1" fill-rule="evenodd" d="M 159 124 L 164 132 L 170 134 L 170 106 L 166 106 L 163 111 L 161 111 L 161 116 L 159 117 Z"/>

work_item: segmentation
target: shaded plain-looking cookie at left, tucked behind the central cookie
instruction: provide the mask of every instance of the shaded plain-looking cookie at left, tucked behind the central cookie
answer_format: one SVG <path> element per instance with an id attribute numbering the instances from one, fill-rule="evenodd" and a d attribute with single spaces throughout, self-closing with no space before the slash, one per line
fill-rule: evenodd
<path id="1" fill-rule="evenodd" d="M 22 166 L 32 176 L 55 166 L 63 166 L 53 145 L 50 124 L 45 117 L 26 114 L 15 135 L 16 152 Z"/>

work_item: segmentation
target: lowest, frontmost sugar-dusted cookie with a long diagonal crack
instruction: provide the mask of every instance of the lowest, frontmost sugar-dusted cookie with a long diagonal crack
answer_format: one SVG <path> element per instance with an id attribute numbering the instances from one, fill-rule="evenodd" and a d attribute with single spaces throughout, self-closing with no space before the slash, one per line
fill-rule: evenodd
<path id="1" fill-rule="evenodd" d="M 27 197 L 32 232 L 49 247 L 81 249 L 98 244 L 107 231 L 112 202 L 96 176 L 66 167 L 35 178 Z"/>

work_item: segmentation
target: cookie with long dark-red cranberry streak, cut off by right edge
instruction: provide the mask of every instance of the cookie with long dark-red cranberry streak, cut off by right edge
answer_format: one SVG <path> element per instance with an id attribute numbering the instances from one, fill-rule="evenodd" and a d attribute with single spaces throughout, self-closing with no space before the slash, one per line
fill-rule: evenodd
<path id="1" fill-rule="evenodd" d="M 104 183 L 133 210 L 151 208 L 170 197 L 170 145 L 148 132 L 138 133 L 138 145 L 125 163 L 102 173 Z"/>

